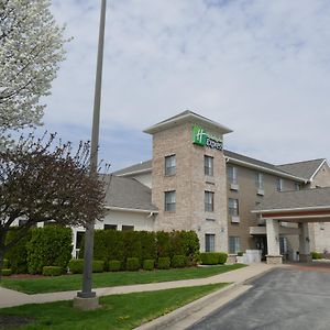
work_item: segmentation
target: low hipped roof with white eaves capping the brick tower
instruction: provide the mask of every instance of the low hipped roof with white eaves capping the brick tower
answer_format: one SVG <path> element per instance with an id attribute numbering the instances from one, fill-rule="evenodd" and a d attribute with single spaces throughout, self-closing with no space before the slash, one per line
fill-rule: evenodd
<path id="1" fill-rule="evenodd" d="M 198 113 L 195 113 L 190 110 L 186 110 L 179 114 L 176 114 L 174 117 L 170 117 L 166 120 L 163 120 L 145 130 L 143 130 L 144 133 L 148 133 L 148 134 L 154 134 L 156 132 L 166 130 L 168 128 L 175 127 L 177 124 L 180 123 L 185 123 L 185 122 L 191 122 L 191 123 L 198 123 L 198 124 L 202 124 L 206 129 L 211 129 L 211 130 L 217 130 L 219 131 L 221 134 L 227 134 L 227 133 L 231 133 L 232 130 L 216 122 L 212 121 L 206 117 L 202 117 Z"/>

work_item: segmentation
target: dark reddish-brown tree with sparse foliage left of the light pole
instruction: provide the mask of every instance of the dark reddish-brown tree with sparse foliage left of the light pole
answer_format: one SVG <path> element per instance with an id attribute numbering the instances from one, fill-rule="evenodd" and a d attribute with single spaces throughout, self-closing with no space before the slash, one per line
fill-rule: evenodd
<path id="1" fill-rule="evenodd" d="M 103 216 L 105 183 L 89 175 L 89 143 L 76 152 L 55 134 L 21 136 L 0 150 L 0 270 L 3 255 L 37 222 L 86 226 Z M 6 242 L 15 220 L 25 220 Z"/>

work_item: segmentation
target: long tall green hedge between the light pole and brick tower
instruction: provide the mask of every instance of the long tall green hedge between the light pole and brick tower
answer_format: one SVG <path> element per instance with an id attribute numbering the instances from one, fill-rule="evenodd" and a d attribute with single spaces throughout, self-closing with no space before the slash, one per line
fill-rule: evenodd
<path id="1" fill-rule="evenodd" d="M 79 257 L 84 257 L 84 248 L 79 251 Z M 162 257 L 168 257 L 169 264 L 172 261 L 172 264 L 178 267 L 196 265 L 199 260 L 199 240 L 195 231 L 96 230 L 94 257 L 105 262 L 106 271 L 111 271 L 112 261 L 120 262 L 120 270 L 127 270 L 128 258 L 131 257 L 139 260 L 139 268 L 143 267 L 145 260 L 157 260 L 157 267 L 160 263 L 162 267 Z"/>

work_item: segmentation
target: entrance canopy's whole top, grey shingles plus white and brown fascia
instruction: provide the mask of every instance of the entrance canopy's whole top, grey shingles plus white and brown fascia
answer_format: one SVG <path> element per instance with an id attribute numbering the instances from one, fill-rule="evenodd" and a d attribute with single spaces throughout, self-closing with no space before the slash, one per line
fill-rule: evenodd
<path id="1" fill-rule="evenodd" d="M 330 222 L 330 187 L 277 191 L 252 212 L 285 222 Z"/>

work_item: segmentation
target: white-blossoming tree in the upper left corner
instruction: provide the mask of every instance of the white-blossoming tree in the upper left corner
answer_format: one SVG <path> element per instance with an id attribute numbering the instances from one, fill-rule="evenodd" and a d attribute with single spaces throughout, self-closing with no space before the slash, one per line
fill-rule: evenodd
<path id="1" fill-rule="evenodd" d="M 63 28 L 50 0 L 0 0 L 0 129 L 41 124 L 58 64 L 64 59 Z"/>

